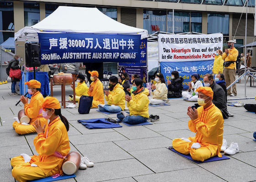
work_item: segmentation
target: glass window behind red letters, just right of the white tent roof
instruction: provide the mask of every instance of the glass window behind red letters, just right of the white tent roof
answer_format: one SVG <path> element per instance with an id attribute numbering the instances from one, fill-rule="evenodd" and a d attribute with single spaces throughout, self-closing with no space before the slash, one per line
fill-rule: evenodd
<path id="1" fill-rule="evenodd" d="M 149 34 L 155 31 L 166 31 L 166 10 L 144 10 L 143 28 L 148 30 Z"/>

